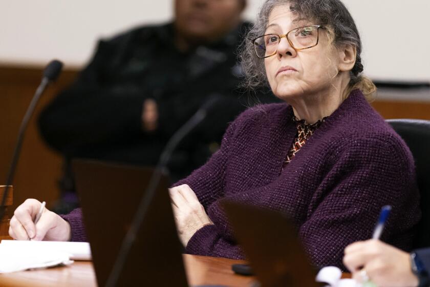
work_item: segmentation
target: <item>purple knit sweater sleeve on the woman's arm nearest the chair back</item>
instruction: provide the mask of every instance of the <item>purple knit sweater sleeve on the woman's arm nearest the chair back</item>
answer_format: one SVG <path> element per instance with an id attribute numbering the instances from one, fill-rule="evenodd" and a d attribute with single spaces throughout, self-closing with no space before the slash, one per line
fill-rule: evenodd
<path id="1" fill-rule="evenodd" d="M 412 242 L 411 222 L 419 219 L 418 191 L 410 152 L 395 137 L 355 141 L 344 150 L 314 193 L 308 218 L 299 228 L 311 261 L 342 265 L 350 243 L 372 237 L 382 206 L 393 209 L 381 240 L 398 248 Z"/>

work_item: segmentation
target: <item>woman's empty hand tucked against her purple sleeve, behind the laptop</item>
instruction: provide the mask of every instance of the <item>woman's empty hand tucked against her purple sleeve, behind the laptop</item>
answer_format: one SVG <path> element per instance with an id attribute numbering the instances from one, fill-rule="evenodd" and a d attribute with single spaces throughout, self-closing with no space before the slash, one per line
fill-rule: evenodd
<path id="1" fill-rule="evenodd" d="M 186 246 L 192 235 L 213 222 L 188 185 L 171 188 L 169 193 L 179 239 Z"/>

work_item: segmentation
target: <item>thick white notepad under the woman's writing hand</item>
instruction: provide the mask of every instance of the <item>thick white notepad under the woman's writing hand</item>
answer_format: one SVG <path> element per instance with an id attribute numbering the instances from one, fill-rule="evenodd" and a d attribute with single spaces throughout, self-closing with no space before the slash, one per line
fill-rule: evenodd
<path id="1" fill-rule="evenodd" d="M 46 252 L 67 253 L 71 260 L 91 260 L 91 249 L 88 242 L 33 241 L 33 240 L 2 240 L 0 248 L 7 250 L 43 250 Z"/>

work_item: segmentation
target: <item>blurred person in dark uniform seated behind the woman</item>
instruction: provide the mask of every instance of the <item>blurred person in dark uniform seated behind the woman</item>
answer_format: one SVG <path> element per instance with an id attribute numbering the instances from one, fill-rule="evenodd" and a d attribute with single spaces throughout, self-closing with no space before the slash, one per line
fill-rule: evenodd
<path id="1" fill-rule="evenodd" d="M 249 26 L 245 0 L 176 0 L 172 23 L 138 27 L 100 40 L 91 63 L 41 113 L 39 128 L 65 157 L 60 182 L 67 212 L 76 207 L 74 157 L 156 164 L 166 141 L 209 97 L 205 121 L 174 153 L 174 180 L 203 165 L 217 150 L 240 99 L 236 48 Z"/>

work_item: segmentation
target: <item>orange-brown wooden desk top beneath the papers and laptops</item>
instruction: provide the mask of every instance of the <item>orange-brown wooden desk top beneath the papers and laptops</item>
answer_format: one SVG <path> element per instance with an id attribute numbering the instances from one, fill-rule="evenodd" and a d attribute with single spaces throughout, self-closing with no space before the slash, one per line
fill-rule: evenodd
<path id="1" fill-rule="evenodd" d="M 231 264 L 241 260 L 183 255 L 190 285 L 220 284 L 226 286 L 249 286 L 254 277 L 235 275 Z M 97 286 L 92 262 L 76 261 L 69 267 L 56 267 L 38 271 L 0 274 L 0 286 L 17 287 L 95 287 Z"/>

